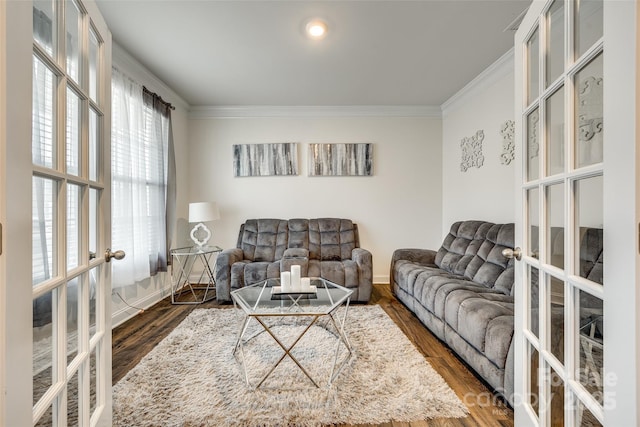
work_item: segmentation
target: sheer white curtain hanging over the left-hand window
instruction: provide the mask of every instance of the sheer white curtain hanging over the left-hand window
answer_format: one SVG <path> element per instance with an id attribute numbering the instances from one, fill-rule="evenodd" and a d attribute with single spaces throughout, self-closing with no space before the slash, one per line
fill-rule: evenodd
<path id="1" fill-rule="evenodd" d="M 116 68 L 111 96 L 111 240 L 127 254 L 112 267 L 112 285 L 122 287 L 166 267 L 167 146 L 157 137 L 142 86 Z"/>

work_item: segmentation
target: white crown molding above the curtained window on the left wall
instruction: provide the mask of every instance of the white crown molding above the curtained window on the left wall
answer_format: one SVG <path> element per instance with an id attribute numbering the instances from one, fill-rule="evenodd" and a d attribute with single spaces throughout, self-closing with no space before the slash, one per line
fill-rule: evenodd
<path id="1" fill-rule="evenodd" d="M 180 106 L 185 111 L 190 109 L 189 104 L 180 95 L 115 42 L 113 43 L 112 62 L 114 67 L 128 73 L 131 78 L 138 80 L 140 84 L 146 86 L 149 90 L 157 92 L 165 101 L 176 107 Z"/>

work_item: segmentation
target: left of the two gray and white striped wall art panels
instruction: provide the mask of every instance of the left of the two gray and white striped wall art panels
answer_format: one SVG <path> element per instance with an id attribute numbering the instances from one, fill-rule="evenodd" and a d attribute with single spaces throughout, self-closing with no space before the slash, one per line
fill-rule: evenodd
<path id="1" fill-rule="evenodd" d="M 233 176 L 270 176 L 298 174 L 298 145 L 234 144 Z"/>

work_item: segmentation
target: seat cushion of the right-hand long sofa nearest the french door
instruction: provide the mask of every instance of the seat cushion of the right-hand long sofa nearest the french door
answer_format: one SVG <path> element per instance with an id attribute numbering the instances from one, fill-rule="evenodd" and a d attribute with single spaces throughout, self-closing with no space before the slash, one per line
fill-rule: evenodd
<path id="1" fill-rule="evenodd" d="M 445 322 L 498 368 L 504 368 L 513 338 L 513 298 L 457 289 L 445 303 Z"/>

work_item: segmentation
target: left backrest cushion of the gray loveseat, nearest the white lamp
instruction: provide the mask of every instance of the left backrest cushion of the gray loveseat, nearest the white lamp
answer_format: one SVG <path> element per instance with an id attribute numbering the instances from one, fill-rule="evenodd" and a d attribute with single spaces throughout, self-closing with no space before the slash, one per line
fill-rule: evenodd
<path id="1" fill-rule="evenodd" d="M 273 262 L 282 258 L 287 238 L 287 221 L 250 219 L 241 227 L 237 246 L 242 249 L 245 260 Z"/>

